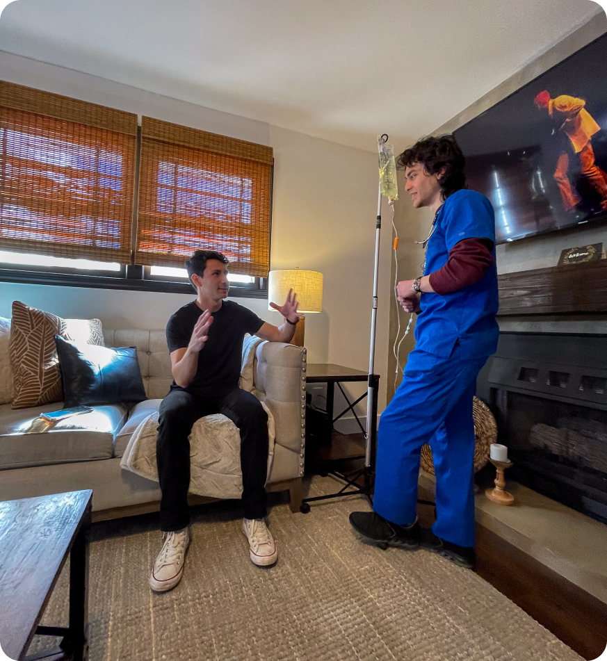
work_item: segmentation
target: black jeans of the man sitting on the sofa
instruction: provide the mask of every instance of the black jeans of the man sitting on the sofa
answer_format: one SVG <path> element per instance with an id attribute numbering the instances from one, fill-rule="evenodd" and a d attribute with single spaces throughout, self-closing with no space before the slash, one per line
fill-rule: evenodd
<path id="1" fill-rule="evenodd" d="M 241 432 L 243 514 L 245 519 L 266 516 L 268 468 L 268 414 L 251 393 L 234 389 L 223 397 L 202 397 L 195 390 L 173 386 L 159 411 L 156 464 L 162 498 L 160 523 L 163 532 L 185 528 L 190 522 L 190 441 L 198 418 L 221 413 Z"/>

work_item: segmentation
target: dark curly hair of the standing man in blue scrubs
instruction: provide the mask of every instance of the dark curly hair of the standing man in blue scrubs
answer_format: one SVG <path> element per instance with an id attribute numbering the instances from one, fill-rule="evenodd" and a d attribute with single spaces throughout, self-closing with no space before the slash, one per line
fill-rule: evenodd
<path id="1" fill-rule="evenodd" d="M 428 174 L 436 174 L 441 168 L 445 168 L 445 173 L 439 178 L 442 199 L 466 186 L 466 158 L 451 134 L 438 138 L 421 138 L 413 147 L 405 149 L 396 160 L 400 170 L 410 168 L 414 163 L 421 163 Z"/>

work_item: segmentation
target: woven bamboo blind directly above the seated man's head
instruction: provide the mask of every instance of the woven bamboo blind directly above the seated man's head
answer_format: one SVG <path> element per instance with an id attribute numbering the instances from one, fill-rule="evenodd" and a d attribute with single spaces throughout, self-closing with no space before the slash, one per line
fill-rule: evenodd
<path id="1" fill-rule="evenodd" d="M 218 250 L 267 277 L 271 147 L 143 117 L 135 262 L 183 266 Z"/>

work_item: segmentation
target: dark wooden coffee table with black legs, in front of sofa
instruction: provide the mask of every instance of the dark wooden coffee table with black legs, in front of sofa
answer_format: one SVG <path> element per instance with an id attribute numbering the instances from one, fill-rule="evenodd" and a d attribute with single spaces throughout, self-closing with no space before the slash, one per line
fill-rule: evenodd
<path id="1" fill-rule="evenodd" d="M 0 647 L 9 659 L 27 659 L 34 634 L 63 640 L 31 659 L 86 659 L 91 500 L 88 489 L 0 503 Z M 38 626 L 68 554 L 70 626 Z"/>

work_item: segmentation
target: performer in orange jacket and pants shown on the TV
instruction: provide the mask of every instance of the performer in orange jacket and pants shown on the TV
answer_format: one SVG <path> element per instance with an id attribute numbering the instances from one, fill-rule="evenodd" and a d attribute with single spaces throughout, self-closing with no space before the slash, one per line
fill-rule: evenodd
<path id="1" fill-rule="evenodd" d="M 560 95 L 551 99 L 549 92 L 543 90 L 535 97 L 535 106 L 544 108 L 554 120 L 558 131 L 563 131 L 575 154 L 578 154 L 581 165 L 581 174 L 588 179 L 588 183 L 597 191 L 601 198 L 600 210 L 607 211 L 607 175 L 594 162 L 592 149 L 592 136 L 601 130 L 592 115 L 584 108 L 586 102 L 567 95 Z M 569 170 L 569 154 L 565 149 L 560 153 L 554 171 L 554 179 L 563 198 L 565 211 L 572 213 L 581 197 L 572 188 L 567 172 Z"/>

